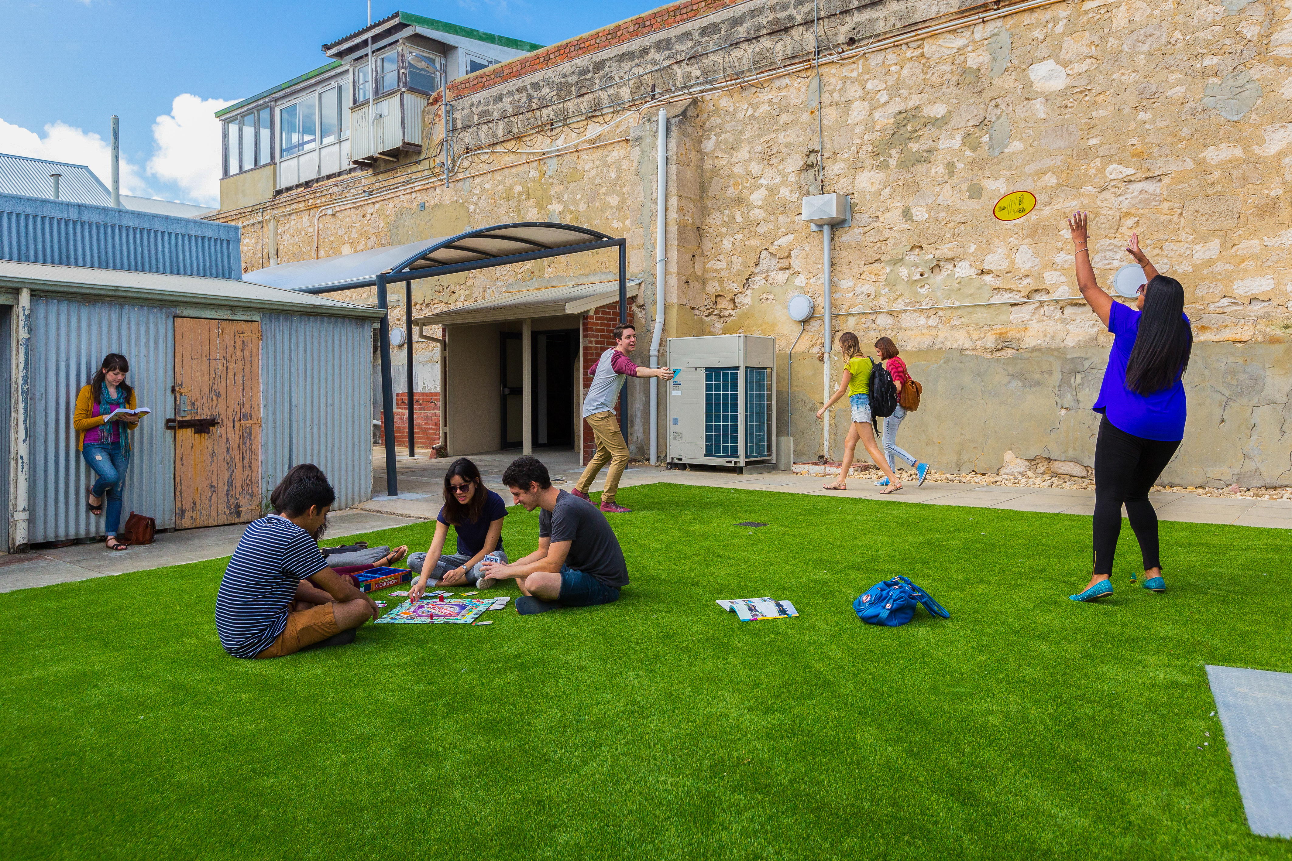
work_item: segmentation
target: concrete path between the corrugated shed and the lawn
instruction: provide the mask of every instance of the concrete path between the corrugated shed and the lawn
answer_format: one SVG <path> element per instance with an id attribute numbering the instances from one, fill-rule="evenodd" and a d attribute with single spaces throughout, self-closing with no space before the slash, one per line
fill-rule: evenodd
<path id="1" fill-rule="evenodd" d="M 329 519 L 328 540 L 373 529 L 407 525 L 406 518 L 394 518 L 350 509 Z M 0 555 L 0 593 L 31 589 L 50 583 L 67 583 L 90 577 L 124 574 L 163 565 L 180 565 L 203 559 L 227 556 L 242 537 L 243 524 L 159 532 L 150 545 L 110 551 L 102 542 L 71 545 L 57 550 Z"/>

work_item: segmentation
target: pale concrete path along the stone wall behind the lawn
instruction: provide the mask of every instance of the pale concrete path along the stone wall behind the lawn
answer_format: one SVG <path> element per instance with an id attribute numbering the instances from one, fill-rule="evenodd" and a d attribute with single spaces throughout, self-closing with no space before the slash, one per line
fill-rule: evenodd
<path id="1" fill-rule="evenodd" d="M 484 483 L 503 494 L 510 502 L 506 488 L 503 487 L 503 470 L 516 458 L 518 452 L 490 452 L 473 454 L 472 460 L 481 469 Z M 583 474 L 574 452 L 537 452 L 539 458 L 548 465 L 553 480 L 563 478 L 561 487 L 572 487 Z M 419 498 L 373 500 L 362 507 L 372 511 L 389 511 L 404 516 L 434 518 L 439 512 L 443 498 L 444 472 L 451 458 L 412 460 L 401 457 L 397 461 L 401 497 L 407 492 Z M 373 493 L 385 493 L 386 472 L 385 453 L 373 451 Z M 602 471 L 601 476 L 605 476 Z M 593 483 L 592 489 L 602 489 L 603 480 Z M 826 491 L 828 479 L 819 476 L 800 476 L 791 472 L 760 472 L 736 475 L 727 470 L 696 467 L 694 470 L 665 470 L 654 466 L 633 466 L 624 471 L 619 487 L 632 488 L 637 484 L 665 481 L 669 484 L 694 484 L 699 487 L 744 488 L 748 491 L 775 491 L 780 493 L 806 493 L 810 496 L 836 496 L 849 498 L 881 500 L 886 502 L 919 502 L 926 505 L 964 505 L 982 509 L 1010 509 L 1014 511 L 1048 511 L 1052 514 L 1094 514 L 1094 491 L 1065 491 L 1056 488 L 1016 488 L 981 484 L 938 484 L 925 481 L 917 488 L 911 481 L 902 491 L 882 496 L 875 487 L 875 479 L 849 479 L 848 491 Z M 1163 520 L 1182 520 L 1187 523 L 1224 523 L 1239 527 L 1267 527 L 1292 529 L 1292 502 L 1267 500 L 1243 500 L 1238 497 L 1202 497 L 1191 493 L 1154 493 L 1150 496 L 1158 516 Z M 621 492 L 619 502 L 632 507 L 632 492 Z"/>

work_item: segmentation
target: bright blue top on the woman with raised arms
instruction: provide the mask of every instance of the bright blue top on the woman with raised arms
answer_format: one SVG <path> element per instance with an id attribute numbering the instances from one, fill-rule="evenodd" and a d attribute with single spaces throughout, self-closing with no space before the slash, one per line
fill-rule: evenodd
<path id="1" fill-rule="evenodd" d="M 1185 438 L 1185 385 L 1180 380 L 1151 395 L 1127 389 L 1127 363 L 1140 333 L 1140 311 L 1114 302 L 1109 311 L 1109 332 L 1114 334 L 1109 367 L 1094 410 L 1103 413 L 1112 426 L 1132 436 L 1174 443 Z M 1187 315 L 1185 323 L 1189 323 Z"/>

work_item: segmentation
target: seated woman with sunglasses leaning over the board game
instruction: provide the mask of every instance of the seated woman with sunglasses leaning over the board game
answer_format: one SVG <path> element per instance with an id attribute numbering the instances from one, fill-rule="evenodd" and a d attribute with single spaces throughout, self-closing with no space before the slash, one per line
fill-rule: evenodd
<path id="1" fill-rule="evenodd" d="M 408 590 L 412 600 L 420 600 L 428 586 L 463 586 L 492 589 L 497 582 L 484 576 L 481 563 L 484 558 L 506 564 L 503 551 L 503 518 L 506 503 L 503 497 L 484 487 L 481 471 L 465 457 L 453 461 L 444 474 L 444 506 L 435 518 L 435 537 L 426 552 L 408 556 L 408 567 L 421 576 Z M 448 527 L 457 531 L 457 552 L 443 555 Z"/>

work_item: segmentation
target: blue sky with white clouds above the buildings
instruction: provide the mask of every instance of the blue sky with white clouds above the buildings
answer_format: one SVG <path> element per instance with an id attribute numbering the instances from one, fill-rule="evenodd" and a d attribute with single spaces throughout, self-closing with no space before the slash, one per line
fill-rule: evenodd
<path id="1" fill-rule="evenodd" d="M 549 45 L 658 5 L 375 0 L 372 18 L 403 9 Z M 213 110 L 322 66 L 320 45 L 363 27 L 367 4 L 0 0 L 0 22 L 12 75 L 0 90 L 0 152 L 89 164 L 107 182 L 116 114 L 123 192 L 214 205 Z"/>

